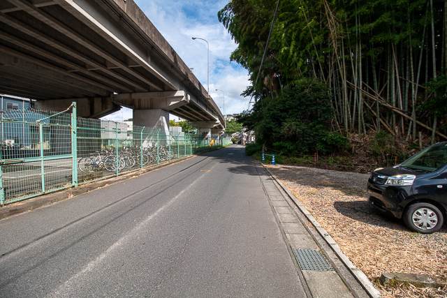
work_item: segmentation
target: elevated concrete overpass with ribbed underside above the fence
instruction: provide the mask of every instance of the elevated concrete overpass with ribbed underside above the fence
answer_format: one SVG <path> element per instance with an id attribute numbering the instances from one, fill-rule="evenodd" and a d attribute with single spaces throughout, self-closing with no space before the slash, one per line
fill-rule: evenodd
<path id="1" fill-rule="evenodd" d="M 169 113 L 203 135 L 225 125 L 133 0 L 1 0 L 0 93 L 35 99 L 37 109 L 76 101 L 81 117 L 129 107 L 135 125 L 164 130 Z"/>

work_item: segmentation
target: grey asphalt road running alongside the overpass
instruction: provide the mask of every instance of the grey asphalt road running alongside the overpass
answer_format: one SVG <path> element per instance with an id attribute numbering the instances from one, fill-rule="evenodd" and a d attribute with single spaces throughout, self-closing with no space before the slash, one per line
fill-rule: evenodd
<path id="1" fill-rule="evenodd" d="M 233 145 L 0 221 L 0 297 L 305 297 Z"/>

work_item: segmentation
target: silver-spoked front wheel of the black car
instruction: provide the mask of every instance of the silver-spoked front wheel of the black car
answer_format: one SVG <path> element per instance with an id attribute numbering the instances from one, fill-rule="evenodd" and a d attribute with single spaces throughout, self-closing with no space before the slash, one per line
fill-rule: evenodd
<path id="1" fill-rule="evenodd" d="M 429 203 L 412 204 L 404 214 L 404 223 L 411 230 L 431 234 L 441 229 L 444 223 L 442 212 Z"/>

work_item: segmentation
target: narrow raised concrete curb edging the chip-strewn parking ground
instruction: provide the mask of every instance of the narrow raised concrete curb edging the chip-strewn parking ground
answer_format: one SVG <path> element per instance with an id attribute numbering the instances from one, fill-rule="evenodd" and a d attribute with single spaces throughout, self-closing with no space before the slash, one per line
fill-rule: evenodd
<path id="1" fill-rule="evenodd" d="M 263 163 L 261 163 L 261 165 L 263 165 Z M 267 167 L 265 167 L 264 165 L 263 167 L 273 177 L 273 179 L 277 181 L 277 183 L 281 186 L 281 188 L 283 188 L 283 190 L 287 193 L 289 198 L 291 198 L 291 200 L 295 202 L 297 207 L 300 209 L 301 213 L 306 216 L 307 220 L 310 221 L 312 225 L 314 225 L 314 228 L 318 231 L 318 234 L 320 234 L 321 237 L 325 239 L 326 243 L 330 246 L 330 248 L 332 248 L 332 251 L 335 253 L 335 255 L 337 255 L 339 260 L 343 262 L 346 268 L 348 268 L 349 271 L 352 272 L 353 276 L 360 283 L 360 285 L 362 285 L 362 288 L 368 293 L 368 295 L 373 298 L 379 298 L 380 297 L 379 290 L 374 288 L 374 285 L 372 284 L 371 281 L 369 281 L 369 278 L 366 276 L 366 274 L 363 273 L 363 271 L 361 271 L 360 269 L 358 269 L 355 265 L 353 265 L 351 260 L 349 260 L 349 258 L 346 257 L 346 255 L 342 252 L 337 242 L 335 242 L 335 240 L 332 237 L 330 237 L 330 234 L 323 227 L 321 227 L 320 223 L 318 223 L 318 221 L 316 221 L 314 216 L 312 216 L 312 214 L 310 214 L 310 212 L 307 211 L 306 207 L 304 207 L 304 205 L 301 204 L 301 202 L 298 201 L 297 198 L 295 198 L 295 195 L 293 195 L 293 193 L 291 193 L 291 191 L 289 191 L 288 188 L 284 184 L 282 184 L 282 182 L 279 181 L 279 179 L 277 179 L 277 177 L 274 176 L 274 174 L 272 174 L 272 172 L 270 172 L 270 170 L 268 170 Z"/>

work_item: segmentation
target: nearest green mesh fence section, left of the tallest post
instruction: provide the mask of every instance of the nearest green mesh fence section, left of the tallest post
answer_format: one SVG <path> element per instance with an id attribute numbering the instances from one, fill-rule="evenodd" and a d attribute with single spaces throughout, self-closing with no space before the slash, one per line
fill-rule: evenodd
<path id="1" fill-rule="evenodd" d="M 72 113 L 0 111 L 0 202 L 7 204 L 75 184 Z"/>

